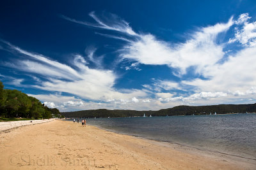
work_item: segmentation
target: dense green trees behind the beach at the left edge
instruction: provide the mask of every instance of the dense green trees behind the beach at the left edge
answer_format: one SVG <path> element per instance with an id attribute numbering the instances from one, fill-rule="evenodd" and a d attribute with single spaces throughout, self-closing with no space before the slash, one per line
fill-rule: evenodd
<path id="1" fill-rule="evenodd" d="M 19 90 L 4 89 L 0 81 L 0 117 L 4 118 L 52 118 L 61 117 L 56 108 L 48 108 L 35 97 L 28 96 Z"/>

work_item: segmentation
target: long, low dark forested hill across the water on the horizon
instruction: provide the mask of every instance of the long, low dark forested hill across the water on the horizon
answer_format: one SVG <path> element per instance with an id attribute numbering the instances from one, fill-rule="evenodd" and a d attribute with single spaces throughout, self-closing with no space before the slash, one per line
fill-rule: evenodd
<path id="1" fill-rule="evenodd" d="M 210 113 L 256 113 L 255 104 L 220 104 L 212 106 L 175 106 L 173 108 L 158 111 L 136 111 L 136 110 L 82 110 L 72 112 L 62 112 L 65 117 L 147 117 L 173 116 L 173 115 L 209 115 Z"/>

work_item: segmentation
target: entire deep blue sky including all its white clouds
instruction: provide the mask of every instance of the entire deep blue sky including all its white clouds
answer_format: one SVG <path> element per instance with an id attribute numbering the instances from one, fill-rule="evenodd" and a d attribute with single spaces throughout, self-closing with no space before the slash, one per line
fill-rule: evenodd
<path id="1" fill-rule="evenodd" d="M 255 1 L 8 1 L 0 80 L 60 111 L 256 103 Z"/>

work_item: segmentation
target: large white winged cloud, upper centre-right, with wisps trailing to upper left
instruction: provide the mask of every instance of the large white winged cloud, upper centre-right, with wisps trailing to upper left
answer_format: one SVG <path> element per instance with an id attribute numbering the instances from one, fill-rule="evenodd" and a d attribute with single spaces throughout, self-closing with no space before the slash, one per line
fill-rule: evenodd
<path id="1" fill-rule="evenodd" d="M 201 73 L 203 67 L 212 66 L 218 62 L 225 52 L 223 52 L 223 45 L 216 43 L 216 38 L 218 34 L 227 31 L 234 24 L 233 17 L 231 17 L 227 23 L 199 28 L 185 43 L 173 44 L 161 41 L 152 34 L 136 33 L 132 31 L 127 22 L 116 15 L 109 13 L 106 19 L 106 13 L 104 14 L 102 18 L 99 18 L 95 12 L 90 13 L 90 16 L 97 22 L 96 24 L 77 23 L 129 34 L 129 37 L 124 38 L 97 32 L 102 36 L 127 42 L 122 49 L 118 50 L 123 59 L 136 60 L 141 64 L 168 65 L 176 68 L 179 74 L 185 74 L 186 69 L 191 66 L 195 66 L 196 71 Z M 76 22 L 72 18 L 64 18 Z"/>

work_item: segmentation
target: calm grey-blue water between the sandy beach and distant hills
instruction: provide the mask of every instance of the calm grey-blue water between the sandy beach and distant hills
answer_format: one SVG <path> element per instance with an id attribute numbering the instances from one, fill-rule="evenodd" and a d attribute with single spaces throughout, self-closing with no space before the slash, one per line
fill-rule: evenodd
<path id="1" fill-rule="evenodd" d="M 86 122 L 109 131 L 256 159 L 256 114 L 90 118 Z"/>

